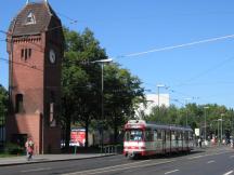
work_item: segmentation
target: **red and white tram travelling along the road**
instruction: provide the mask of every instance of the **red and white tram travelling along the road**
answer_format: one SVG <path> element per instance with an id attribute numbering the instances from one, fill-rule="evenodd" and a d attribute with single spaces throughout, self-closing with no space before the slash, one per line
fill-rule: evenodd
<path id="1" fill-rule="evenodd" d="M 130 159 L 139 156 L 187 151 L 194 147 L 193 130 L 174 125 L 130 120 L 125 124 L 123 154 Z"/>

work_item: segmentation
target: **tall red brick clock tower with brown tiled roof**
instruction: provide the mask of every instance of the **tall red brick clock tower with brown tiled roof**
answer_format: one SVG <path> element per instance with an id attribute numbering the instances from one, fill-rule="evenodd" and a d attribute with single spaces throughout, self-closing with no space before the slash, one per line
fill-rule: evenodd
<path id="1" fill-rule="evenodd" d="M 61 147 L 63 45 L 61 21 L 46 0 L 27 2 L 10 25 L 6 138 L 23 145 L 31 136 L 37 153 L 58 152 Z"/>

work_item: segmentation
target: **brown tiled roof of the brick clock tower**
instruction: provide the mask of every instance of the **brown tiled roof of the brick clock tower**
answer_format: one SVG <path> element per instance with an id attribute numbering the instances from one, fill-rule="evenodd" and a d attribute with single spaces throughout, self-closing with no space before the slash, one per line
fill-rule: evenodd
<path id="1" fill-rule="evenodd" d="M 38 35 L 48 30 L 52 18 L 61 25 L 60 18 L 48 2 L 29 2 L 11 22 L 9 32 L 13 37 Z"/>

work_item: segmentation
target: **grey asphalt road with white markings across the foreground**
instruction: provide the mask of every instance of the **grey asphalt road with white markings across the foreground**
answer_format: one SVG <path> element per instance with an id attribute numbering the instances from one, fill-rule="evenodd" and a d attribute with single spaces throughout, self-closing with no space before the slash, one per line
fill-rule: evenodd
<path id="1" fill-rule="evenodd" d="M 191 154 L 128 160 L 123 156 L 0 169 L 2 175 L 234 175 L 234 150 L 208 148 Z"/>

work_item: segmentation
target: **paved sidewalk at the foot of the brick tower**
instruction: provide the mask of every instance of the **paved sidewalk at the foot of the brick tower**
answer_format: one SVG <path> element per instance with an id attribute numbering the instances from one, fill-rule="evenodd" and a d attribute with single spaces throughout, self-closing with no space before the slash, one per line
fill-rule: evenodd
<path id="1" fill-rule="evenodd" d="M 0 158 L 0 166 L 28 164 L 28 163 L 42 163 L 42 162 L 56 162 L 66 160 L 92 159 L 100 157 L 114 156 L 113 153 L 77 153 L 77 154 L 36 154 L 32 160 L 27 161 L 26 156 Z"/>

